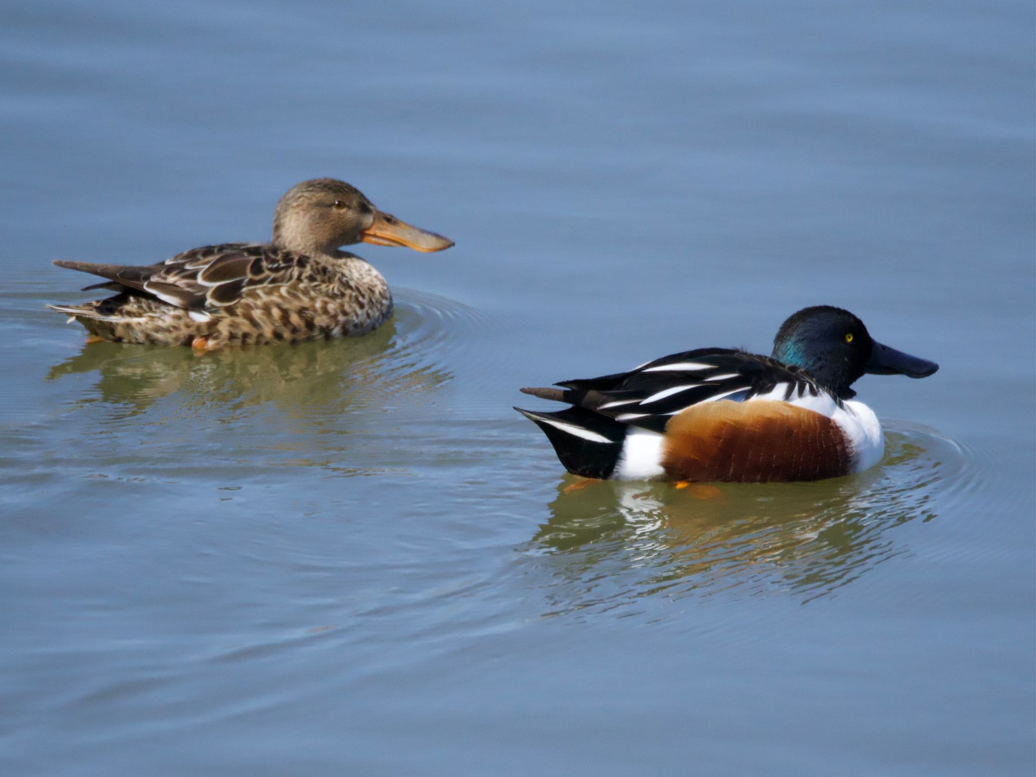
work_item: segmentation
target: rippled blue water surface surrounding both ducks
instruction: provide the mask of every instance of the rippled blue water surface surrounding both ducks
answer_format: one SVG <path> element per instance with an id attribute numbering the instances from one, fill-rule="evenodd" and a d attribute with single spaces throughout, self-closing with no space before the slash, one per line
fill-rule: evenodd
<path id="1" fill-rule="evenodd" d="M 1031 3 L 0 21 L 3 774 L 1033 773 Z M 363 340 L 42 308 L 319 175 L 457 241 L 358 251 Z M 861 476 L 581 487 L 510 409 L 821 303 L 942 366 Z"/>

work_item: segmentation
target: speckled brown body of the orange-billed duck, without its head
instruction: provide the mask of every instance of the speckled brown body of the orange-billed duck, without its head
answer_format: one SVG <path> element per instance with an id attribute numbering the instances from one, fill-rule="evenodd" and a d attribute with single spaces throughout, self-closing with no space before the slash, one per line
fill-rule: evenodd
<path id="1" fill-rule="evenodd" d="M 381 274 L 352 254 L 310 257 L 272 246 L 205 246 L 148 266 L 62 262 L 123 291 L 53 306 L 117 343 L 249 345 L 363 335 L 393 312 Z M 95 288 L 87 287 L 87 288 Z M 192 313 L 195 317 L 192 317 Z M 208 320 L 197 320 L 208 319 Z"/>

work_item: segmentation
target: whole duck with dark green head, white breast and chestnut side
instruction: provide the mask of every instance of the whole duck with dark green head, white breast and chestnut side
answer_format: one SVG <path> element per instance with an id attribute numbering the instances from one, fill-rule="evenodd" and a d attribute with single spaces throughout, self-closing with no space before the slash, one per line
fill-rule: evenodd
<path id="1" fill-rule="evenodd" d="M 570 472 L 678 484 L 815 481 L 861 472 L 885 452 L 882 425 L 851 387 L 864 374 L 923 378 L 939 365 L 870 336 L 832 306 L 788 317 L 770 356 L 673 353 L 629 372 L 521 391 L 570 407 L 515 407 Z"/>

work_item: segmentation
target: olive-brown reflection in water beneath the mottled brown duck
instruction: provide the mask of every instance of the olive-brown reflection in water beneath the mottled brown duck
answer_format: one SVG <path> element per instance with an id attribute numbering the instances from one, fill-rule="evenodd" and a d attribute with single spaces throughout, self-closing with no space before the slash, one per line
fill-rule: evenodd
<path id="1" fill-rule="evenodd" d="M 396 318 L 362 338 L 335 342 L 228 348 L 196 354 L 189 348 L 96 343 L 53 367 L 48 378 L 98 373 L 103 402 L 122 418 L 157 400 L 182 394 L 186 410 L 272 404 L 281 413 L 306 416 L 382 405 L 435 388 L 452 377 L 435 366 L 458 321 L 471 311 L 432 295 L 407 295 Z M 97 397 L 80 398 L 80 403 Z"/>

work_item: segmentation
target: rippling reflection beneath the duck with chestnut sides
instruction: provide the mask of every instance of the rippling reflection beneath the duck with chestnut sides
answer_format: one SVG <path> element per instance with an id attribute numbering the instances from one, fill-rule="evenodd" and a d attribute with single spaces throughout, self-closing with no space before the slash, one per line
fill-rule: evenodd
<path id="1" fill-rule="evenodd" d="M 887 434 L 880 466 L 817 483 L 678 489 L 566 476 L 526 550 L 551 576 L 552 612 L 691 592 L 809 601 L 905 552 L 891 529 L 934 518 L 933 493 L 961 466 L 953 443 L 910 431 Z"/>

